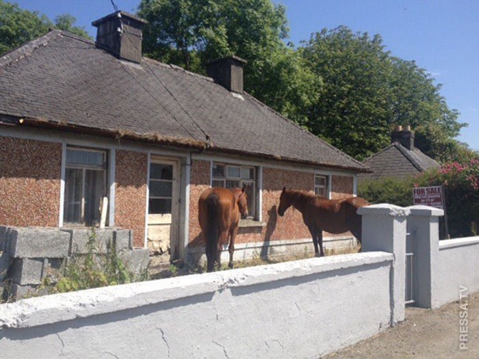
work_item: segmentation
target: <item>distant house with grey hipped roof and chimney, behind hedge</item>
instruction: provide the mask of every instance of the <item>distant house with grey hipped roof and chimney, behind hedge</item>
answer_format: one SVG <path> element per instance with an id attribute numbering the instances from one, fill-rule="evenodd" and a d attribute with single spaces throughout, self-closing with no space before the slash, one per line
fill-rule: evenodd
<path id="1" fill-rule="evenodd" d="M 414 131 L 410 126 L 406 126 L 404 130 L 402 126 L 396 127 L 391 135 L 391 144 L 365 159 L 363 164 L 367 165 L 371 172 L 359 174 L 359 181 L 387 177 L 404 178 L 439 167 L 439 163 L 434 159 L 415 148 Z"/>

